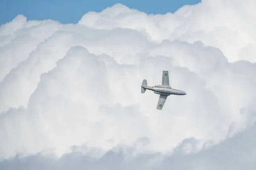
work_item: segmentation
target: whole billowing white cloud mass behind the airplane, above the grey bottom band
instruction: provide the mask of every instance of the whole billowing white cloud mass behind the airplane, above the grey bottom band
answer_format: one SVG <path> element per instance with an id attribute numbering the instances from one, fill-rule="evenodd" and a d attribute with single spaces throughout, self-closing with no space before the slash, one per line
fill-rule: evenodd
<path id="1" fill-rule="evenodd" d="M 223 143 L 239 140 L 236 134 L 256 120 L 253 5 L 202 0 L 174 14 L 148 15 L 116 4 L 77 24 L 19 15 L 2 25 L 0 159 L 16 166 L 17 154 L 46 164 L 51 156 L 60 164 L 77 156 L 97 164 L 128 156 L 131 166 L 119 166 L 140 167 L 145 160 L 151 164 L 141 168 L 149 168 L 169 159 L 211 166 L 214 148 L 230 152 Z M 187 95 L 169 96 L 159 111 L 159 96 L 141 94 L 140 85 L 143 79 L 160 84 L 163 70 Z M 209 159 L 199 161 L 201 155 Z"/>

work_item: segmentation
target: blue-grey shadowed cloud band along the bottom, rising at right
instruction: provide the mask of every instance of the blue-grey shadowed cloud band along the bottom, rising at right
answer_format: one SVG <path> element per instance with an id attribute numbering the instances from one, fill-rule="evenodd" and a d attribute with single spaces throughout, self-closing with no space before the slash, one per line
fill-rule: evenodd
<path id="1" fill-rule="evenodd" d="M 186 139 L 175 149 L 172 155 L 161 156 L 159 153 L 140 154 L 135 157 L 127 157 L 127 151 L 108 151 L 99 159 L 92 159 L 88 155 L 74 151 L 62 156 L 60 159 L 52 159 L 41 154 L 20 158 L 18 155 L 0 164 L 5 170 L 82 170 L 84 168 L 101 170 L 254 170 L 255 161 L 255 130 L 256 124 L 242 133 L 227 139 L 221 144 L 202 150 L 197 153 L 184 154 L 183 147 L 196 140 Z M 131 151 L 131 148 L 128 148 Z"/>

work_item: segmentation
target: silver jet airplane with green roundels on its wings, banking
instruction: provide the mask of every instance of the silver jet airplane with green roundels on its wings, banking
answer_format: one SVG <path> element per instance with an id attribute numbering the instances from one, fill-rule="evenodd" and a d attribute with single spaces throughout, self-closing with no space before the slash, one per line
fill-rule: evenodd
<path id="1" fill-rule="evenodd" d="M 143 79 L 142 85 L 141 85 L 141 93 L 145 93 L 146 90 L 154 91 L 155 94 L 160 94 L 159 100 L 157 103 L 157 109 L 162 110 L 163 105 L 166 102 L 166 99 L 171 94 L 173 95 L 186 95 L 184 91 L 180 91 L 177 89 L 172 88 L 169 85 L 169 72 L 163 71 L 162 76 L 162 85 L 155 85 L 154 87 L 149 87 L 147 84 L 147 80 Z"/>

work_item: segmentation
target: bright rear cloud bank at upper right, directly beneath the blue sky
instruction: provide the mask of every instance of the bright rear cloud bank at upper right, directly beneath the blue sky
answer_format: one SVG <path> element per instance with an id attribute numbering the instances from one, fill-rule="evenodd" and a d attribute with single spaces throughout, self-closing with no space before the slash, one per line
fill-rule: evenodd
<path id="1" fill-rule="evenodd" d="M 147 15 L 119 4 L 101 13 L 89 12 L 79 24 L 98 29 L 132 28 L 145 31 L 157 42 L 200 40 L 220 48 L 231 62 L 255 62 L 255 6 L 254 0 L 202 0 L 194 6 L 183 6 L 175 14 Z M 246 52 L 248 49 L 250 52 Z"/>

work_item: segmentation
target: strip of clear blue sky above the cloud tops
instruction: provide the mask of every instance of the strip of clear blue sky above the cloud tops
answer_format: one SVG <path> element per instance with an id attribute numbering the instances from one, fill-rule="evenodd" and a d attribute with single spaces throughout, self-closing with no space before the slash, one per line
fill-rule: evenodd
<path id="1" fill-rule="evenodd" d="M 122 3 L 148 14 L 174 12 L 186 4 L 201 0 L 2 0 L 0 25 L 11 21 L 18 14 L 28 20 L 58 20 L 61 23 L 77 23 L 88 11 L 102 11 L 115 3 Z"/>

